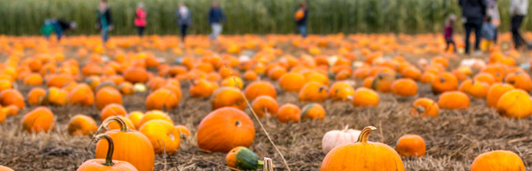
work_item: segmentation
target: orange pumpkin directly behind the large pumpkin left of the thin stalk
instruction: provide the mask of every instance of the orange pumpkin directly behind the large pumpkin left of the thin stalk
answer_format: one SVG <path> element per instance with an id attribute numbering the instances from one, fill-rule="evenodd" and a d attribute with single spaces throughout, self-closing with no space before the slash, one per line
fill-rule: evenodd
<path id="1" fill-rule="evenodd" d="M 238 88 L 222 87 L 212 94 L 210 105 L 212 106 L 212 110 L 221 107 L 235 107 L 236 109 L 244 110 L 247 103 Z"/>

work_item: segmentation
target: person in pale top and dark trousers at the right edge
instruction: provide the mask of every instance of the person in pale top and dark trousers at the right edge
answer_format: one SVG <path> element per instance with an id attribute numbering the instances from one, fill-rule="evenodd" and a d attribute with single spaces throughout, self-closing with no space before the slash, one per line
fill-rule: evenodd
<path id="1" fill-rule="evenodd" d="M 526 45 L 527 42 L 519 33 L 519 28 L 523 22 L 524 16 L 527 15 L 529 9 L 529 0 L 511 0 L 510 1 L 510 15 L 511 15 L 511 36 L 513 38 L 513 44 L 516 49 L 519 49 L 522 45 Z M 532 49 L 532 44 L 528 44 L 529 49 Z"/>

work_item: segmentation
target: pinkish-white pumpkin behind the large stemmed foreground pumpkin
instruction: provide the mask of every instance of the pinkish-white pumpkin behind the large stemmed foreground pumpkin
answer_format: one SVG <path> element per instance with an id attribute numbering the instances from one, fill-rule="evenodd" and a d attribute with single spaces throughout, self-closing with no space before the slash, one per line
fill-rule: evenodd
<path id="1" fill-rule="evenodd" d="M 327 154 L 330 150 L 342 144 L 357 142 L 358 135 L 360 135 L 360 131 L 349 129 L 348 125 L 343 130 L 333 130 L 325 133 L 322 139 L 323 153 Z"/>

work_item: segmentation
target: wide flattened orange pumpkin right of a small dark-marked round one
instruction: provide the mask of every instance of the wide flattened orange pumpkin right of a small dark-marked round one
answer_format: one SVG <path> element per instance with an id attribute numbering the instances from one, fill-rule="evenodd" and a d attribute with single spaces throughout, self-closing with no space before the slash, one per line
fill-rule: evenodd
<path id="1" fill-rule="evenodd" d="M 463 92 L 444 92 L 439 96 L 438 106 L 442 109 L 466 109 L 469 107 L 469 97 Z"/>

